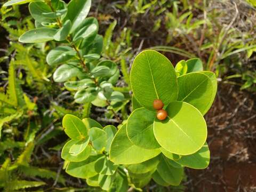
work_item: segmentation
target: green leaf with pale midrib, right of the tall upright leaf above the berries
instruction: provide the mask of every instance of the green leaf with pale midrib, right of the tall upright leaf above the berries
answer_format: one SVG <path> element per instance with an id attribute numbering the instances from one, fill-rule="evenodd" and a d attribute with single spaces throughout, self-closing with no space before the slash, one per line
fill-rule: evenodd
<path id="1" fill-rule="evenodd" d="M 211 79 L 202 73 L 189 73 L 178 77 L 178 101 L 185 101 L 196 107 L 202 115 L 210 109 L 213 97 Z M 211 103 L 212 104 L 212 103 Z"/>

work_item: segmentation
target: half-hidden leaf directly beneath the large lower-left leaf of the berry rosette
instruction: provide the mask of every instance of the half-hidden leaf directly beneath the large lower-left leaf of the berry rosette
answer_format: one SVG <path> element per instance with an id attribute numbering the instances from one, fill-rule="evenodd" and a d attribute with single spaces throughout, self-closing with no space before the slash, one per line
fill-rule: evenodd
<path id="1" fill-rule="evenodd" d="M 128 165 L 126 168 L 129 172 L 143 174 L 156 169 L 158 162 L 158 157 L 154 157 L 142 163 Z"/>

